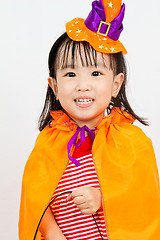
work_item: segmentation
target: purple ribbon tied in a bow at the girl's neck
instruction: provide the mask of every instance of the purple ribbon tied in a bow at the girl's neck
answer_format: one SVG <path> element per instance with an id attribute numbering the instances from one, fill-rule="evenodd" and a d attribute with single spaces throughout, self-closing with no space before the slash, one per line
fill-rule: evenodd
<path id="1" fill-rule="evenodd" d="M 71 152 L 71 148 L 72 148 L 72 145 L 74 144 L 74 146 L 76 148 L 79 148 L 81 146 L 81 144 L 85 141 L 85 130 L 89 133 L 89 135 L 91 136 L 92 138 L 92 142 L 94 141 L 94 138 L 95 138 L 95 134 L 94 134 L 94 130 L 95 129 L 89 129 L 86 125 L 81 127 L 81 128 L 78 128 L 78 130 L 75 132 L 75 134 L 72 136 L 72 138 L 70 139 L 70 141 L 68 142 L 68 146 L 67 146 L 67 149 L 68 149 L 68 158 L 78 167 L 80 165 L 80 162 L 78 162 L 75 158 L 73 158 L 71 155 L 70 155 L 70 152 Z M 78 134 L 80 133 L 80 137 L 81 137 L 81 142 L 79 144 L 77 144 L 77 136 Z"/>

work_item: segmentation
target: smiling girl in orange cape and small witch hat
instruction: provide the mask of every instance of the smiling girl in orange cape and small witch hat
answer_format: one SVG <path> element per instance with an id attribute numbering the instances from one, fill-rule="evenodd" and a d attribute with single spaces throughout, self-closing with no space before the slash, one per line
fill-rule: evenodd
<path id="1" fill-rule="evenodd" d="M 40 134 L 27 161 L 20 240 L 158 240 L 160 186 L 146 124 L 125 93 L 125 5 L 95 1 L 49 55 Z"/>

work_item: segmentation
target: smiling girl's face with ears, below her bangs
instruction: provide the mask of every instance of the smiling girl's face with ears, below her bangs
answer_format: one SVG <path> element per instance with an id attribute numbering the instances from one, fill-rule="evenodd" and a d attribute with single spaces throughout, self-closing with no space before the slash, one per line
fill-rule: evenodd
<path id="1" fill-rule="evenodd" d="M 92 129 L 104 117 L 112 96 L 118 95 L 124 76 L 114 76 L 107 54 L 102 58 L 97 52 L 97 66 L 82 66 L 77 56 L 74 68 L 70 55 L 67 66 L 57 70 L 56 80 L 49 78 L 48 82 L 70 118 L 79 127 L 87 125 Z"/>

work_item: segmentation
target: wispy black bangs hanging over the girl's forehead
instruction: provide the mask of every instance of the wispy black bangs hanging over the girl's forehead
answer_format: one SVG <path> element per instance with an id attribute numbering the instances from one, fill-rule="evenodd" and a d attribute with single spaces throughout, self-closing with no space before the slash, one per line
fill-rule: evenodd
<path id="1" fill-rule="evenodd" d="M 101 55 L 105 66 L 103 53 Z M 57 52 L 55 70 L 75 68 L 78 58 L 83 67 L 97 67 L 97 51 L 88 42 L 77 42 L 67 38 Z"/>

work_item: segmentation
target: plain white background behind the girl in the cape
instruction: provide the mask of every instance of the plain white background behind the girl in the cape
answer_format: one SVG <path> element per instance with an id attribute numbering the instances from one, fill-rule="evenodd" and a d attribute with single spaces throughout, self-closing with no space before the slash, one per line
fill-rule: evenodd
<path id="1" fill-rule="evenodd" d="M 112 1 L 112 0 L 111 0 Z M 48 77 L 48 53 L 65 22 L 86 18 L 90 0 L 1 0 L 0 7 L 0 239 L 18 239 L 21 179 L 38 135 Z M 128 96 L 149 119 L 160 169 L 160 2 L 125 1 Z M 147 173 L 146 173 L 147 174 Z"/>

